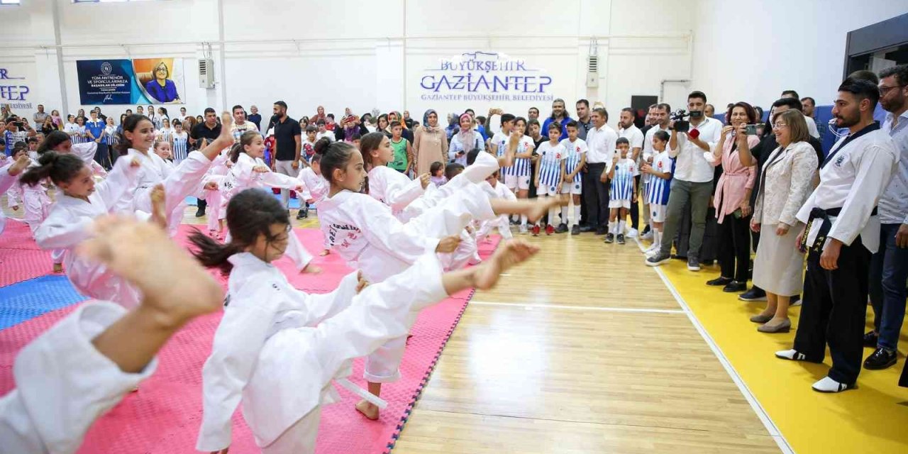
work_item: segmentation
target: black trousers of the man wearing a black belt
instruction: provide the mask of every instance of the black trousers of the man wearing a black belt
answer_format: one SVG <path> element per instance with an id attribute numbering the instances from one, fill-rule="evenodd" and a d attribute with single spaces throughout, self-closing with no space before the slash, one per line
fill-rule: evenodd
<path id="1" fill-rule="evenodd" d="M 811 250 L 807 254 L 795 350 L 804 353 L 806 360 L 822 362 L 828 342 L 833 357 L 829 378 L 854 385 L 864 354 L 871 253 L 858 236 L 851 246 L 842 246 L 839 268 L 834 271 L 820 266 L 821 253 Z"/>

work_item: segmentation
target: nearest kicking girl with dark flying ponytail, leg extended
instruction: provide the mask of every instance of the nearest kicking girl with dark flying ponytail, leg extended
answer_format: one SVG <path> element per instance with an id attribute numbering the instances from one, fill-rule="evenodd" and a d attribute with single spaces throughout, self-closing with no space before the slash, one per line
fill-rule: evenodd
<path id="1" fill-rule="evenodd" d="M 359 173 L 360 182 L 365 176 L 361 162 L 335 173 Z M 291 236 L 281 202 L 267 192 L 240 192 L 227 206 L 227 228 L 232 241 L 226 244 L 201 233 L 191 237 L 202 264 L 230 272 L 224 315 L 202 368 L 196 449 L 204 452 L 227 451 L 241 401 L 262 452 L 314 452 L 321 406 L 339 398 L 331 381 L 350 374 L 351 360 L 406 336 L 403 320 L 410 311 L 472 286 L 489 288 L 501 272 L 538 251 L 512 242 L 483 266 L 449 273 L 429 253 L 387 281 L 365 286 L 354 271 L 337 290 L 310 295 L 271 264 Z"/>

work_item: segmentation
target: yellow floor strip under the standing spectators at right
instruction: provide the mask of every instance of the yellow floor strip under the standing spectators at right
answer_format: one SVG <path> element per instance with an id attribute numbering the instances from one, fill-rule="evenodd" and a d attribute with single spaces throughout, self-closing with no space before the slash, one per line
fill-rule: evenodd
<path id="1" fill-rule="evenodd" d="M 790 312 L 791 332 L 764 334 L 748 319 L 765 308 L 765 301 L 739 301 L 737 293 L 706 286 L 706 281 L 718 276 L 718 266 L 692 272 L 687 271 L 686 262 L 673 260 L 660 270 L 795 452 L 908 452 L 908 388 L 898 386 L 908 349 L 908 330 L 904 327 L 895 366 L 861 370 L 857 389 L 823 394 L 810 386 L 826 375 L 831 364 L 828 352 L 824 364 L 774 356 L 776 350 L 792 347 L 799 307 Z M 867 321 L 872 327 L 870 306 Z M 864 358 L 872 352 L 865 348 Z"/>

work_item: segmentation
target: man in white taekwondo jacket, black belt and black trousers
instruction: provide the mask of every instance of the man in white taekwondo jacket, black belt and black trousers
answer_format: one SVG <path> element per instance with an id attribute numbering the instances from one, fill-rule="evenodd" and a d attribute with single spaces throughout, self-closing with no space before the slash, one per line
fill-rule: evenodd
<path id="1" fill-rule="evenodd" d="M 833 367 L 814 383 L 820 392 L 850 390 L 861 372 L 870 259 L 880 243 L 876 202 L 898 163 L 893 139 L 873 121 L 879 98 L 868 81 L 839 86 L 833 116 L 849 134 L 820 165 L 820 184 L 797 213 L 805 223 L 798 235 L 807 252 L 804 306 L 795 348 L 775 356 L 823 362 L 828 341 Z"/>

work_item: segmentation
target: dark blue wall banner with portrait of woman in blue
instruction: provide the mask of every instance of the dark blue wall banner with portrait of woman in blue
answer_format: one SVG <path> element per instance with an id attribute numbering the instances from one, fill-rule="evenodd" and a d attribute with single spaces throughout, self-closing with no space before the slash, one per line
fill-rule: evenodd
<path id="1" fill-rule="evenodd" d="M 182 104 L 180 58 L 78 60 L 79 99 L 91 104 Z"/>

